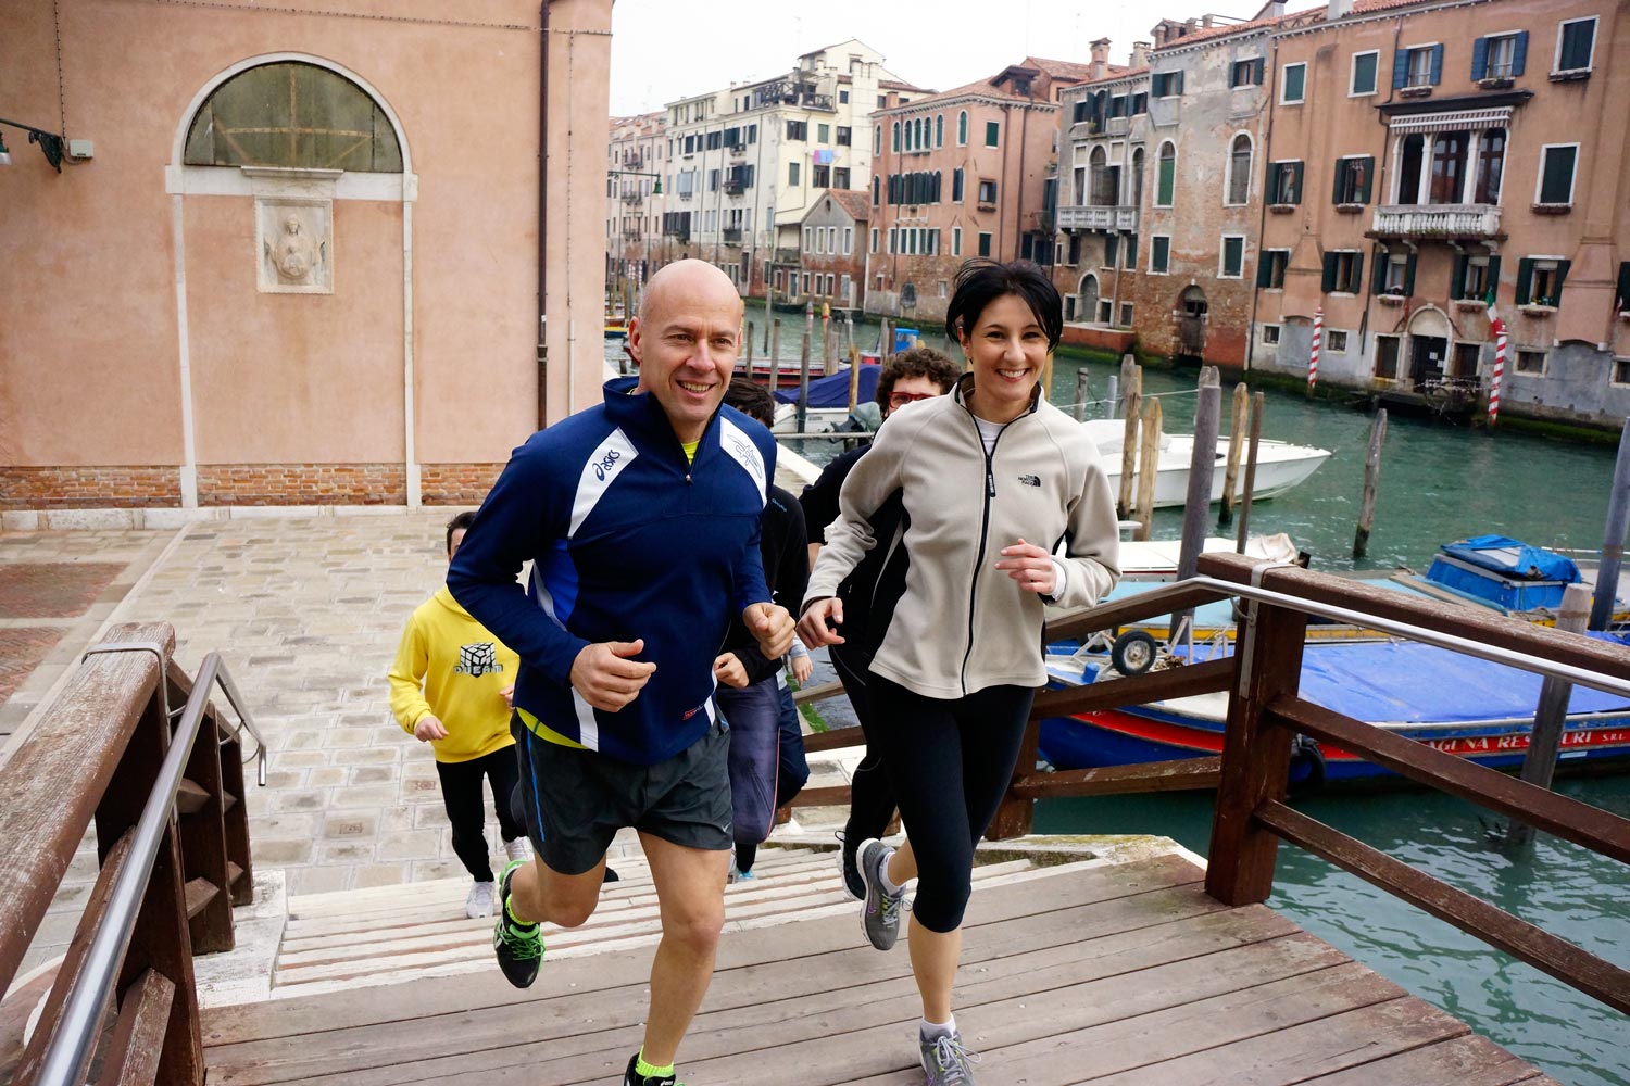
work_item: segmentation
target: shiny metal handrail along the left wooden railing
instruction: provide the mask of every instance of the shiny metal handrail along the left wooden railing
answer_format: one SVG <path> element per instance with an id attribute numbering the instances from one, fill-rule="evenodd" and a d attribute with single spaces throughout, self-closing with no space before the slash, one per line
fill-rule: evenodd
<path id="1" fill-rule="evenodd" d="M 225 679 L 225 669 L 220 655 L 209 653 L 199 666 L 192 694 L 187 697 L 187 703 L 181 710 L 181 721 L 171 736 L 170 751 L 153 780 L 153 791 L 148 793 L 142 817 L 135 824 L 130 855 L 108 896 L 103 922 L 85 952 L 73 992 L 62 1005 L 55 1034 L 46 1047 L 39 1076 L 34 1079 L 39 1086 L 78 1086 L 85 1081 L 85 1065 L 99 1032 L 101 1011 L 108 1005 L 124 949 L 130 943 L 135 917 L 140 912 L 142 897 L 147 894 L 147 882 L 153 874 L 153 861 L 158 858 L 158 845 L 170 825 L 176 790 L 181 785 L 186 762 L 192 755 L 192 744 L 197 741 L 204 720 L 204 707 L 209 703 L 209 692 L 217 679 Z M 228 684 L 230 679 L 223 681 L 222 687 L 231 698 L 233 692 Z M 160 669 L 158 689 L 165 689 L 163 669 Z M 259 739 L 258 734 L 256 739 Z"/>

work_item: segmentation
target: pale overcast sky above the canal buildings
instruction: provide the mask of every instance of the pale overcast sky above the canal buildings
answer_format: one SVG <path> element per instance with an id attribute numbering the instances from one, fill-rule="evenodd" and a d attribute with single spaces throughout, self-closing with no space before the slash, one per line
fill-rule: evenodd
<path id="1" fill-rule="evenodd" d="M 688 94 L 789 70 L 799 54 L 859 37 L 890 72 L 934 90 L 994 75 L 1022 57 L 1090 60 L 1110 39 L 1126 63 L 1162 18 L 1214 11 L 1250 18 L 1263 0 L 616 0 L 611 8 L 611 114 L 650 112 Z M 1317 7 L 1314 0 L 1291 10 Z"/>

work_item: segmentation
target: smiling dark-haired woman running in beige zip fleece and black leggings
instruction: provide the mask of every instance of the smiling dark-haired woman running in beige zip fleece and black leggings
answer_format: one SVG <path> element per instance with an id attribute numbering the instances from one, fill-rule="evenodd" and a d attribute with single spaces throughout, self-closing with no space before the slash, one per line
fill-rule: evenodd
<path id="1" fill-rule="evenodd" d="M 867 840 L 857 866 L 866 935 L 879 949 L 898 938 L 905 884 L 918 879 L 911 970 L 931 1086 L 973 1083 L 978 1057 L 952 1016 L 962 915 L 973 847 L 1012 778 L 1030 700 L 1046 681 L 1043 606 L 1090 606 L 1120 576 L 1097 448 L 1038 388 L 1063 332 L 1061 308 L 1027 261 L 962 267 L 945 332 L 971 373 L 950 396 L 911 404 L 879 430 L 843 485 L 799 622 L 808 646 L 843 643 L 838 583 L 874 545 L 903 550 L 905 593 L 887 628 L 869 632 L 879 721 L 869 741 L 908 840 L 898 852 Z M 872 518 L 895 493 L 908 528 L 883 541 Z"/>

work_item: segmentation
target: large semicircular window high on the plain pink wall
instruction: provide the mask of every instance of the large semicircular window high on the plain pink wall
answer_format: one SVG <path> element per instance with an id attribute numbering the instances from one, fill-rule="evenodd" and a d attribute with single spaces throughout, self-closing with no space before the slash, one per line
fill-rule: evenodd
<path id="1" fill-rule="evenodd" d="M 262 63 L 204 101 L 181 160 L 187 166 L 292 166 L 401 173 L 396 129 L 346 77 L 297 60 Z"/>

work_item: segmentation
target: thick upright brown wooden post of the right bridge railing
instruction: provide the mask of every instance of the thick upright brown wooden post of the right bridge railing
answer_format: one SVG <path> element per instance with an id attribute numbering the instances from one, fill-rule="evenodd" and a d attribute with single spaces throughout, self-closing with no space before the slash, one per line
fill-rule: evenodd
<path id="1" fill-rule="evenodd" d="M 1306 640 L 1307 615 L 1284 607 L 1245 606 L 1206 865 L 1206 892 L 1229 905 L 1262 902 L 1273 892 L 1280 842 L 1252 819 L 1252 812 L 1265 801 L 1284 798 L 1293 734 L 1263 708 L 1281 695 L 1296 694 Z"/>

